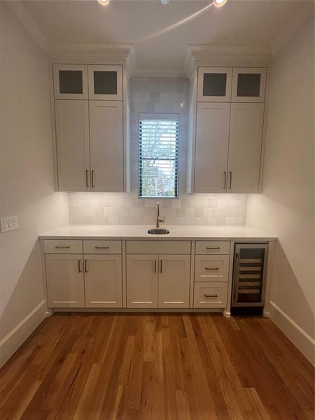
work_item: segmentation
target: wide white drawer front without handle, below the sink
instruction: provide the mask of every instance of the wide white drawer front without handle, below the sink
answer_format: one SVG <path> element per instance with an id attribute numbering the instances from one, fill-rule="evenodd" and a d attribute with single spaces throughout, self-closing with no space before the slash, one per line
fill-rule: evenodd
<path id="1" fill-rule="evenodd" d="M 190 254 L 190 241 L 127 241 L 127 253 Z"/>

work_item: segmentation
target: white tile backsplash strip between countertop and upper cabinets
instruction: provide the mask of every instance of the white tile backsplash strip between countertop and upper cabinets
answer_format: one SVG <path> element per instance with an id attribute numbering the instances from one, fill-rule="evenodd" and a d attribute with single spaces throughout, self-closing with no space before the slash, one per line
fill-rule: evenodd
<path id="1" fill-rule="evenodd" d="M 154 225 L 156 203 L 165 225 L 245 225 L 246 194 L 181 195 L 177 200 L 139 199 L 132 193 L 69 193 L 70 223 Z"/>

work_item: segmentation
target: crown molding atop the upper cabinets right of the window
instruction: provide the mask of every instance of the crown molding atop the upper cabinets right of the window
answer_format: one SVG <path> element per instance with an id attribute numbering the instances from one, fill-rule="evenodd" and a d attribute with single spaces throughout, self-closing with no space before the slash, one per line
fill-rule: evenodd
<path id="1" fill-rule="evenodd" d="M 267 66 L 271 58 L 265 45 L 188 44 L 184 69 L 190 77 L 195 66 Z"/>

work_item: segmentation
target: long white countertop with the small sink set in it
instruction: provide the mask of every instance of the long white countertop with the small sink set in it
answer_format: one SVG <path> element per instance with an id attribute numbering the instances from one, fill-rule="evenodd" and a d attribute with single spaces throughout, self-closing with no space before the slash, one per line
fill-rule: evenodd
<path id="1" fill-rule="evenodd" d="M 69 225 L 39 235 L 41 239 L 210 239 L 210 240 L 265 240 L 276 237 L 246 226 L 168 226 L 169 235 L 150 235 L 146 225 Z"/>

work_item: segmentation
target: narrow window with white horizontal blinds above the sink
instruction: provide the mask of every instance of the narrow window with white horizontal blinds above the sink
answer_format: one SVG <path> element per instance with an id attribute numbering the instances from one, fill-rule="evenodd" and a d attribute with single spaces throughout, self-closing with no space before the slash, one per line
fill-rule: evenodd
<path id="1" fill-rule="evenodd" d="M 139 197 L 176 198 L 178 168 L 179 117 L 140 116 Z"/>

